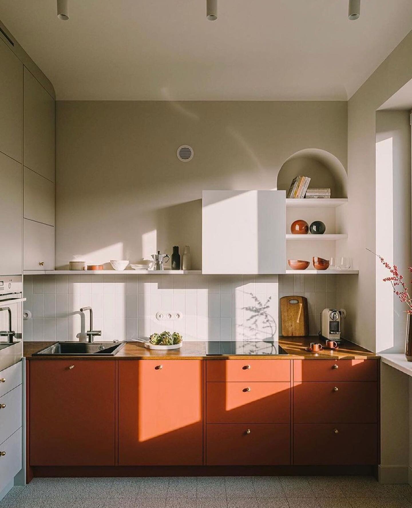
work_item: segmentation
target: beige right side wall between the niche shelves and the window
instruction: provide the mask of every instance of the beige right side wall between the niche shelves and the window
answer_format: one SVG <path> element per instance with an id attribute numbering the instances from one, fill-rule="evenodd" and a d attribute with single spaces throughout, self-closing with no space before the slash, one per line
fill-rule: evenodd
<path id="1" fill-rule="evenodd" d="M 375 111 L 412 78 L 411 54 L 412 32 L 348 101 L 350 207 L 344 248 L 357 260 L 359 277 L 342 280 L 340 303 L 352 315 L 350 336 L 372 351 L 376 348 L 375 263 L 366 247 L 375 248 Z"/>

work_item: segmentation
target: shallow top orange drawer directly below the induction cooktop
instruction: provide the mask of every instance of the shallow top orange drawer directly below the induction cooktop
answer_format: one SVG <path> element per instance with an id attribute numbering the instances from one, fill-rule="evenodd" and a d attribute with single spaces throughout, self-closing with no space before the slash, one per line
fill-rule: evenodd
<path id="1" fill-rule="evenodd" d="M 208 360 L 208 381 L 290 381 L 288 360 Z"/>

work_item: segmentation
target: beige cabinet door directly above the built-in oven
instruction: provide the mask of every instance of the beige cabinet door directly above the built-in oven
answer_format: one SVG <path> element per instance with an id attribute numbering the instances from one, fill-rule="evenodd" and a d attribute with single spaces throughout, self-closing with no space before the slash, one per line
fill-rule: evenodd
<path id="1" fill-rule="evenodd" d="M 19 275 L 22 263 L 23 172 L 21 164 L 0 153 L 0 273 Z"/>

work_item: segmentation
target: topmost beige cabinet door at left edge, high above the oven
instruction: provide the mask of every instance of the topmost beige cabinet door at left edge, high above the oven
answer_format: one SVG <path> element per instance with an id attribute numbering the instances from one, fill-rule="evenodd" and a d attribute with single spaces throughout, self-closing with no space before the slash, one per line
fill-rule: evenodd
<path id="1" fill-rule="evenodd" d="M 0 40 L 0 151 L 22 162 L 23 64 Z"/>

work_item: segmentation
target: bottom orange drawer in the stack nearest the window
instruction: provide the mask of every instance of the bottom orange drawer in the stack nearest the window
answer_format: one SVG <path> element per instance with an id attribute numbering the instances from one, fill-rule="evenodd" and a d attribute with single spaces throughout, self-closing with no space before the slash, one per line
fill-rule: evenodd
<path id="1" fill-rule="evenodd" d="M 294 427 L 295 465 L 377 463 L 376 424 L 317 423 L 296 424 Z"/>

